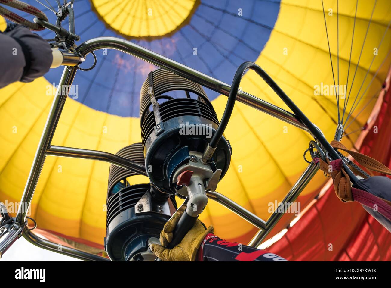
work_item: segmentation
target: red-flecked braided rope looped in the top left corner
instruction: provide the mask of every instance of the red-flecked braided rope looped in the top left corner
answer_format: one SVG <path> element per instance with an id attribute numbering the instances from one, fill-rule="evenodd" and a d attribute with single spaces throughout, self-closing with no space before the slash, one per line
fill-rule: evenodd
<path id="1" fill-rule="evenodd" d="M 22 1 L 19 1 L 19 0 L 0 0 L 0 3 L 7 5 L 9 7 L 13 7 L 15 9 L 18 9 L 20 11 L 24 11 L 29 14 L 32 14 L 32 15 L 38 17 L 39 19 L 48 21 L 48 18 L 41 10 L 39 10 L 38 8 L 31 6 L 27 3 L 24 3 Z M 9 11 L 8 9 L 6 9 L 2 6 L 0 6 L 0 15 L 3 16 L 4 18 L 7 18 L 8 20 L 10 20 L 12 22 L 26 26 L 27 28 L 29 28 L 32 31 L 41 31 L 41 30 L 45 29 L 44 27 L 42 27 L 34 22 L 31 22 L 31 21 L 19 16 L 18 14 L 15 14 L 15 13 Z"/>

